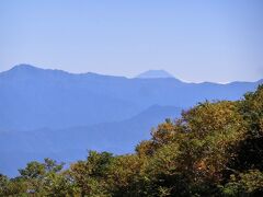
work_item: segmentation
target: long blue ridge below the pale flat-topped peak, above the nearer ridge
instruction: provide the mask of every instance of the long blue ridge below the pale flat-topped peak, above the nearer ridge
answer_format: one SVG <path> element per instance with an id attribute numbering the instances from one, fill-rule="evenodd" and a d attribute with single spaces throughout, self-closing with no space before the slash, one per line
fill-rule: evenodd
<path id="1" fill-rule="evenodd" d="M 115 121 L 155 104 L 185 108 L 206 100 L 238 100 L 259 83 L 128 79 L 20 65 L 0 73 L 0 129 L 35 129 L 49 125 L 66 128 Z"/>

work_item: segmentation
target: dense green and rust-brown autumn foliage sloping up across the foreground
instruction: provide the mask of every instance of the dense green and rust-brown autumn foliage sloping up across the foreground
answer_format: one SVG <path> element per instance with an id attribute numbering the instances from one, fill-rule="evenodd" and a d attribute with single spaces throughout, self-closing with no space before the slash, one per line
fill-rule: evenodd
<path id="1" fill-rule="evenodd" d="M 0 196 L 263 196 L 263 85 L 167 119 L 134 154 L 90 151 L 64 170 L 45 159 L 0 175 Z"/>

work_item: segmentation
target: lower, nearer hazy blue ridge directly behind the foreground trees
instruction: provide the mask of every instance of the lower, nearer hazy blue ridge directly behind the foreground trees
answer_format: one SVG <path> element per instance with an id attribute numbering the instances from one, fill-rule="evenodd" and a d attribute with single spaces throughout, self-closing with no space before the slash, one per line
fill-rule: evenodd
<path id="1" fill-rule="evenodd" d="M 130 118 L 65 129 L 39 128 L 0 132 L 0 172 L 10 176 L 28 161 L 45 157 L 65 161 L 84 159 L 88 149 L 130 153 L 149 130 L 165 118 L 176 118 L 181 108 L 153 105 Z M 9 154 L 12 153 L 12 158 Z"/>

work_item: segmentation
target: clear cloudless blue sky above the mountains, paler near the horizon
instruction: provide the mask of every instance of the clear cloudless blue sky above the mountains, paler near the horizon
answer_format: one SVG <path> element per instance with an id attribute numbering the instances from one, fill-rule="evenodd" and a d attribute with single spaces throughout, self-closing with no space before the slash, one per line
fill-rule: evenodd
<path id="1" fill-rule="evenodd" d="M 18 63 L 255 81 L 263 78 L 263 0 L 1 0 L 0 71 Z"/>

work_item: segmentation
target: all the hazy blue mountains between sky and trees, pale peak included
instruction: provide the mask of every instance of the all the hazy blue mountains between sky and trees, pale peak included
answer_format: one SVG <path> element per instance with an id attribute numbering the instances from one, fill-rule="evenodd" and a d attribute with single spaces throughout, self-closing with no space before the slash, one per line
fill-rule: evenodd
<path id="1" fill-rule="evenodd" d="M 72 74 L 20 65 L 0 72 L 0 173 L 27 161 L 126 153 L 151 127 L 202 101 L 240 99 L 263 81 L 185 83 L 165 71 L 137 78 Z"/>

